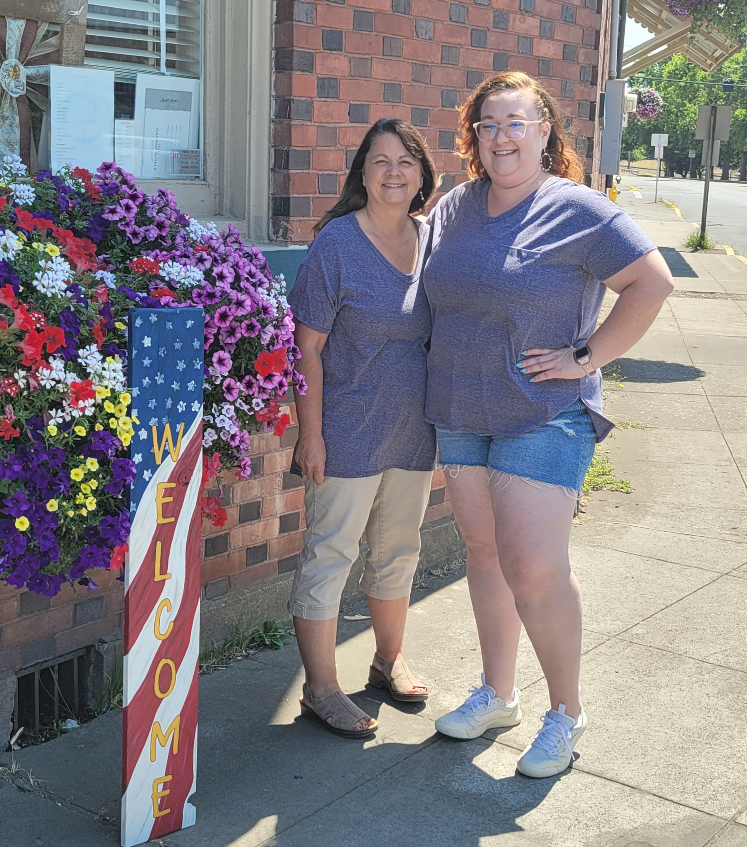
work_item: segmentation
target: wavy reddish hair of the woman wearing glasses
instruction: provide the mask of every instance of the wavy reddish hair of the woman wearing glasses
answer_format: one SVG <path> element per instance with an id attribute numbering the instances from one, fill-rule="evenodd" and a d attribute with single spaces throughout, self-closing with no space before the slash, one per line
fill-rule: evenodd
<path id="1" fill-rule="evenodd" d="M 473 179 L 485 176 L 485 169 L 480 161 L 477 132 L 472 125 L 480 120 L 482 102 L 493 91 L 532 92 L 540 119 L 548 121 L 550 125 L 547 152 L 553 161 L 549 173 L 565 176 L 574 182 L 583 182 L 581 159 L 572 147 L 566 146 L 566 130 L 560 119 L 558 104 L 537 80 L 518 70 L 506 70 L 502 74 L 491 76 L 472 91 L 470 99 L 460 108 L 457 146 L 458 155 L 467 160 L 467 174 Z"/>

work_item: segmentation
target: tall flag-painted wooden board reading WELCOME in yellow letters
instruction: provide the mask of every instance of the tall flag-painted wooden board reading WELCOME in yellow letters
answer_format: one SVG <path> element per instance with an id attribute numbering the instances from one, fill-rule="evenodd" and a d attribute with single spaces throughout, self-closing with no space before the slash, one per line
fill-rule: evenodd
<path id="1" fill-rule="evenodd" d="M 122 847 L 195 822 L 203 310 L 132 309 Z"/>

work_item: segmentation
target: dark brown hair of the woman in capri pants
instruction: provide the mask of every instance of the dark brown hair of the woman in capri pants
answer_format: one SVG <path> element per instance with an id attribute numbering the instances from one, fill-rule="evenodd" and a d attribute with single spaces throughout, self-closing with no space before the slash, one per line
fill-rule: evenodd
<path id="1" fill-rule="evenodd" d="M 430 150 L 426 145 L 423 136 L 407 121 L 399 118 L 382 118 L 376 121 L 368 132 L 366 132 L 363 141 L 360 142 L 360 147 L 355 153 L 353 163 L 350 165 L 350 172 L 343 185 L 343 191 L 340 194 L 340 199 L 326 213 L 326 215 L 314 227 L 314 235 L 319 235 L 321 230 L 326 227 L 326 224 L 334 218 L 342 218 L 349 212 L 356 212 L 362 209 L 368 202 L 368 192 L 363 185 L 363 166 L 365 157 L 371 150 L 371 145 L 379 136 L 391 133 L 393 136 L 398 136 L 399 141 L 402 141 L 407 152 L 415 157 L 423 169 L 423 185 L 421 191 L 418 191 L 410 203 L 410 214 L 417 214 L 426 208 L 427 202 L 431 199 L 433 190 L 436 187 L 436 166 L 433 164 L 433 159 Z M 425 199 L 421 199 L 421 196 Z"/>

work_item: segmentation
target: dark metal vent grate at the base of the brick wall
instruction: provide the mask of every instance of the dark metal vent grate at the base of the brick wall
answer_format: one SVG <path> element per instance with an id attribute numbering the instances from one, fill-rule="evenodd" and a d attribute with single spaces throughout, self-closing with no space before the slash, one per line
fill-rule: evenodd
<path id="1" fill-rule="evenodd" d="M 18 678 L 13 713 L 14 732 L 21 727 L 39 734 L 55 721 L 81 715 L 82 679 L 86 650 L 34 667 Z"/>

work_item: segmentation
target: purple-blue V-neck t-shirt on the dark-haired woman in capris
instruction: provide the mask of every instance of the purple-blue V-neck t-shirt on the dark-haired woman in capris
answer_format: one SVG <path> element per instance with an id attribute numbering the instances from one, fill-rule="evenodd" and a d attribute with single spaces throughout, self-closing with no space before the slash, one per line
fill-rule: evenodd
<path id="1" fill-rule="evenodd" d="M 418 226 L 417 267 L 403 274 L 376 250 L 355 213 L 332 220 L 288 295 L 301 323 L 329 335 L 321 352 L 328 476 L 433 468 L 436 439 L 424 417 L 431 313 L 421 282 L 428 228 Z"/>

